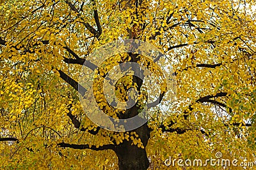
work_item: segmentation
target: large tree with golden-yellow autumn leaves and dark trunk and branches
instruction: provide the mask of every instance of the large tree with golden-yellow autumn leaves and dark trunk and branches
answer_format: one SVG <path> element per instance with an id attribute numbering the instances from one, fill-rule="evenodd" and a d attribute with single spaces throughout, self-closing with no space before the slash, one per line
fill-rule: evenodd
<path id="1" fill-rule="evenodd" d="M 216 152 L 254 161 L 253 6 L 253 1 L 226 0 L 1 1 L 1 168 L 168 169 L 169 157 L 205 160 Z M 85 87 L 78 80 L 82 65 L 95 71 L 95 80 L 105 74 L 90 54 L 120 38 L 140 39 L 165 53 L 157 60 L 172 64 L 177 96 L 168 109 L 161 107 L 168 103 L 161 90 L 147 124 L 114 132 L 86 117 L 78 96 Z M 104 64 L 128 61 L 157 69 L 136 53 L 115 55 Z M 152 89 L 143 89 L 136 76 L 118 83 L 120 100 L 127 101 L 129 87 L 141 99 L 124 111 L 102 108 L 116 118 L 138 115 Z M 104 97 L 98 98 L 100 106 Z M 161 113 L 168 118 L 159 119 Z"/>

